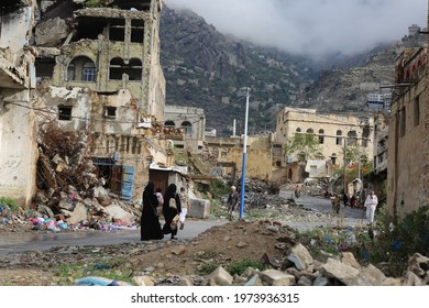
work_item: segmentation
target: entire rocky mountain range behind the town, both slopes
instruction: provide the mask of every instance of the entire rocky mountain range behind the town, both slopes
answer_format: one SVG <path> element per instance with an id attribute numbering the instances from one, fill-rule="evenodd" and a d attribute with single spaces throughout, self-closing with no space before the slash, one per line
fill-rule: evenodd
<path id="1" fill-rule="evenodd" d="M 166 103 L 202 108 L 207 127 L 230 135 L 234 119 L 243 128 L 246 87 L 250 134 L 274 131 L 276 113 L 285 106 L 367 111 L 369 94 L 394 81 L 397 55 L 424 44 L 426 35 L 315 62 L 223 35 L 196 13 L 164 6 L 160 36 Z"/>

